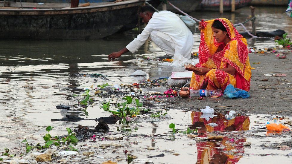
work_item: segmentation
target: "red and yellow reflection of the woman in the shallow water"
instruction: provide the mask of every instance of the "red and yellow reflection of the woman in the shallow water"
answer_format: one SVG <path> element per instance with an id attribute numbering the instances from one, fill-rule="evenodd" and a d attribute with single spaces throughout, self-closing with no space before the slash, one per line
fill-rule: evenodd
<path id="1" fill-rule="evenodd" d="M 192 127 L 198 128 L 198 137 L 207 137 L 207 132 L 212 131 L 245 131 L 249 130 L 250 119 L 247 116 L 236 116 L 235 119 L 227 120 L 224 115 L 218 114 L 207 121 L 200 118 L 201 112 L 192 112 Z M 211 127 L 207 124 L 216 123 L 218 126 Z M 246 138 L 223 137 L 223 140 L 216 142 L 197 142 L 197 164 L 201 163 L 237 163 L 244 153 L 243 143 Z M 232 150 L 232 152 L 231 152 Z"/>

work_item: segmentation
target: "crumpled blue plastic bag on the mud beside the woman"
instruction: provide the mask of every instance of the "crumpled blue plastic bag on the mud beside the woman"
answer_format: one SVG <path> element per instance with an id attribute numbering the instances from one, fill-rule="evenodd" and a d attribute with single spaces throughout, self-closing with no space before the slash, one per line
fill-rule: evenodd
<path id="1" fill-rule="evenodd" d="M 250 93 L 239 88 L 234 88 L 233 85 L 229 84 L 224 90 L 223 97 L 226 99 L 233 99 L 233 98 L 239 98 L 239 97 L 242 97 L 245 99 L 245 98 L 250 97 Z"/>

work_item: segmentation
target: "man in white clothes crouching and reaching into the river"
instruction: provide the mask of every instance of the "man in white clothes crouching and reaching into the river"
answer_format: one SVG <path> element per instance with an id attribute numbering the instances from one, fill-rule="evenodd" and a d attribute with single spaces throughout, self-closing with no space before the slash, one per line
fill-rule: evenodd
<path id="1" fill-rule="evenodd" d="M 129 51 L 134 53 L 149 36 L 166 53 L 163 58 L 181 55 L 190 59 L 194 38 L 191 30 L 182 22 L 180 17 L 170 11 L 157 13 L 148 5 L 141 7 L 139 16 L 147 24 L 142 33 L 120 51 L 109 54 L 109 60 L 118 58 Z"/>

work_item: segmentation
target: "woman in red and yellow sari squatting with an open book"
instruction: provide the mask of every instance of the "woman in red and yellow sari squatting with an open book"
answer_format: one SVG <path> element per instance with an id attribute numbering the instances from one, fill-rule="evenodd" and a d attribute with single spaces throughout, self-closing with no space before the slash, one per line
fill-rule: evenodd
<path id="1" fill-rule="evenodd" d="M 202 72 L 194 71 L 190 89 L 225 90 L 232 84 L 235 88 L 250 90 L 251 67 L 247 40 L 225 18 L 202 21 L 199 47 Z"/>

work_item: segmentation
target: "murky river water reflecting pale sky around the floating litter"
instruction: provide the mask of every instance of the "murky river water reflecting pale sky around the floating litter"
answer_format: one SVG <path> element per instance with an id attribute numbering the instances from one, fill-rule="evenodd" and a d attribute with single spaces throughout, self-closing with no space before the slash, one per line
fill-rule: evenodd
<path id="1" fill-rule="evenodd" d="M 276 29 L 285 30 L 291 37 L 292 20 L 284 13 L 285 7 L 257 7 L 257 30 L 273 31 Z M 249 16 L 248 7 L 237 10 L 234 14 L 224 13 L 222 17 L 232 20 L 233 23 L 244 22 Z M 216 13 L 191 13 L 198 19 L 217 18 Z M 250 30 L 250 24 L 246 24 Z M 240 30 L 240 27 L 238 28 Z M 102 111 L 99 105 L 88 107 L 86 112 L 82 111 L 77 104 L 73 94 L 81 94 L 91 85 L 104 83 L 110 84 L 132 84 L 142 79 L 157 79 L 161 76 L 170 76 L 172 71 L 183 70 L 181 67 L 159 66 L 136 64 L 136 58 L 143 56 L 164 55 L 159 49 L 153 48 L 149 41 L 146 42 L 135 54 L 124 54 L 120 59 L 109 62 L 107 55 L 111 52 L 120 50 L 137 35 L 136 31 L 115 34 L 104 40 L 90 41 L 35 41 L 35 40 L 2 40 L 0 41 L 0 151 L 5 147 L 11 151 L 16 151 L 19 147 L 25 147 L 21 141 L 27 138 L 29 142 L 42 142 L 42 136 L 46 133 L 45 128 L 48 125 L 54 126 L 52 135 L 66 134 L 66 127 L 94 126 L 96 122 L 83 120 L 79 122 L 57 121 L 51 122 L 51 119 L 65 118 L 67 114 L 75 114 L 82 118 L 99 118 L 109 116 L 109 113 Z M 199 46 L 199 34 L 194 35 L 194 51 Z M 274 47 L 273 38 L 249 39 L 249 47 Z M 157 69 L 161 67 L 162 72 Z M 147 72 L 146 77 L 130 76 L 136 69 Z M 72 76 L 75 73 L 100 73 L 106 75 L 106 78 L 91 78 Z M 33 85 L 33 90 L 21 88 L 23 85 Z M 52 87 L 58 85 L 58 87 Z M 49 86 L 45 89 L 43 86 Z M 159 87 L 145 89 L 151 91 L 163 92 L 167 88 Z M 75 106 L 76 110 L 56 109 L 56 105 L 66 104 Z M 161 107 L 160 107 L 161 106 Z M 163 103 L 157 107 L 162 108 Z M 198 106 L 194 110 L 203 108 Z M 279 150 L 279 148 L 263 147 L 269 143 L 285 142 L 291 137 L 291 134 L 284 134 L 274 137 L 268 137 L 266 131 L 206 131 L 206 133 L 216 133 L 223 135 L 221 141 L 216 142 L 196 142 L 184 136 L 176 136 L 178 139 L 165 140 L 171 136 L 170 123 L 176 124 L 176 128 L 186 130 L 188 125 L 194 123 L 194 117 L 190 111 L 176 111 L 175 107 L 167 111 L 171 115 L 171 120 L 162 122 L 138 122 L 130 124 L 132 132 L 129 140 L 140 142 L 138 145 L 132 145 L 136 150 L 136 155 L 141 159 L 147 159 L 146 155 L 154 156 L 161 153 L 165 157 L 152 158 L 155 163 L 173 163 L 180 159 L 179 163 L 204 163 L 212 159 L 227 160 L 233 159 L 230 163 L 266 163 L 290 161 L 288 152 Z M 88 116 L 86 116 L 88 115 Z M 259 117 L 258 117 L 259 116 Z M 265 123 L 264 116 L 252 114 L 249 116 L 249 125 L 253 127 L 255 121 Z M 247 116 L 248 117 L 248 116 Z M 201 123 L 202 124 L 202 123 Z M 117 134 L 118 123 L 110 125 L 110 133 Z M 137 129 L 137 130 L 135 130 Z M 203 129 L 203 128 L 202 128 Z M 200 131 L 200 129 L 199 129 Z M 151 137 L 135 137 L 140 134 L 164 134 L 160 137 L 151 139 Z M 245 141 L 251 142 L 251 147 L 243 146 Z M 125 142 L 124 140 L 121 141 Z M 153 151 L 148 151 L 147 146 L 156 147 Z M 144 149 L 146 148 L 146 149 Z M 165 149 L 173 149 L 174 152 L 165 152 Z M 122 154 L 122 152 L 119 152 Z M 106 157 L 107 152 L 100 152 L 98 156 Z M 198 156 L 200 154 L 200 157 Z M 267 155 L 268 154 L 268 155 Z M 277 154 L 277 158 L 274 155 Z M 231 157 L 235 158 L 231 158 Z M 264 160 L 262 157 L 265 157 Z M 236 160 L 235 160 L 236 159 Z M 100 163 L 102 159 L 97 162 Z M 125 163 L 125 161 L 123 161 Z"/>

